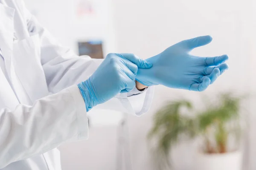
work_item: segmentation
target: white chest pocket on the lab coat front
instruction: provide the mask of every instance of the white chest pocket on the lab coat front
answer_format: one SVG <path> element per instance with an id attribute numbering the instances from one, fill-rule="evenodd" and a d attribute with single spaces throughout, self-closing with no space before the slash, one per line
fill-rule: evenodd
<path id="1" fill-rule="evenodd" d="M 47 82 L 41 65 L 41 42 L 39 35 L 14 43 L 13 65 L 32 102 L 48 94 Z"/>

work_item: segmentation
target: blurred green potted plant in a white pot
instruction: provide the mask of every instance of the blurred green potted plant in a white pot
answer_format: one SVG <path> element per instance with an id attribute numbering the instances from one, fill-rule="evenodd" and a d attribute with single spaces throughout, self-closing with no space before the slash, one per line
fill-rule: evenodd
<path id="1" fill-rule="evenodd" d="M 222 94 L 218 104 L 211 103 L 194 116 L 191 116 L 195 112 L 192 103 L 187 100 L 171 102 L 160 109 L 148 134 L 149 139 L 156 139 L 154 154 L 159 165 L 172 167 L 169 158 L 172 147 L 184 138 L 198 138 L 201 144 L 197 148 L 196 170 L 241 170 L 240 102 L 240 97 Z"/>

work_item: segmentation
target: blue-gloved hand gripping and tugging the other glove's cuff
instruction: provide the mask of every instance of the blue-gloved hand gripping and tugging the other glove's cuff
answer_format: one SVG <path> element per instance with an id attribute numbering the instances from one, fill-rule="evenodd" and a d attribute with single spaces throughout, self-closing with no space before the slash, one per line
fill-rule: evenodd
<path id="1" fill-rule="evenodd" d="M 84 98 L 86 111 L 104 103 L 118 93 L 134 89 L 139 68 L 151 68 L 152 64 L 134 54 L 108 54 L 93 75 L 78 87 Z"/>

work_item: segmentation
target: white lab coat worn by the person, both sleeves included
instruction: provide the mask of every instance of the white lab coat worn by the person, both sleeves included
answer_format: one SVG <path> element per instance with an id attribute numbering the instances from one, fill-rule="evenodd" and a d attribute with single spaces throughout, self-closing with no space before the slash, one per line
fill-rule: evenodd
<path id="1" fill-rule="evenodd" d="M 76 84 L 101 60 L 78 57 L 59 45 L 21 0 L 0 0 L 0 50 L 6 71 L 0 69 L 0 169 L 60 170 L 56 147 L 88 136 L 86 109 Z M 140 115 L 151 99 L 148 88 L 96 108 Z"/>

